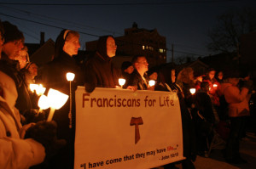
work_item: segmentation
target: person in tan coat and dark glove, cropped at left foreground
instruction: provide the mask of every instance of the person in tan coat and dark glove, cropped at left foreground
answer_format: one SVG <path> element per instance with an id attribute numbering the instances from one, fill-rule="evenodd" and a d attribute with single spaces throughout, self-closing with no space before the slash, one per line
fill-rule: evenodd
<path id="1" fill-rule="evenodd" d="M 0 168 L 27 169 L 39 164 L 46 168 L 48 158 L 65 144 L 56 138 L 55 121 L 22 126 L 15 108 L 15 82 L 1 70 L 0 77 Z"/>

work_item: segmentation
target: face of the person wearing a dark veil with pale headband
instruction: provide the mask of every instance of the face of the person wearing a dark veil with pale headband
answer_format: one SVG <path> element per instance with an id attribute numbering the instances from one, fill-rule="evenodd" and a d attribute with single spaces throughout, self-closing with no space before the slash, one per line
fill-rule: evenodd
<path id="1" fill-rule="evenodd" d="M 69 36 L 72 36 L 72 35 L 69 35 Z M 80 47 L 81 45 L 79 42 L 79 37 L 73 36 L 65 42 L 63 46 L 63 51 L 65 51 L 70 56 L 73 56 L 79 53 Z"/>

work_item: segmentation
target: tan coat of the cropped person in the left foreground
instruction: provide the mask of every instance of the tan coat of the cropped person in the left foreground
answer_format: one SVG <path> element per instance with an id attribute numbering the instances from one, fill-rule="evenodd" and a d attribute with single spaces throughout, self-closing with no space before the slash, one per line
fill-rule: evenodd
<path id="1" fill-rule="evenodd" d="M 44 146 L 32 138 L 20 138 L 20 114 L 15 109 L 15 82 L 2 71 L 0 77 L 0 168 L 26 169 L 44 161 Z"/>

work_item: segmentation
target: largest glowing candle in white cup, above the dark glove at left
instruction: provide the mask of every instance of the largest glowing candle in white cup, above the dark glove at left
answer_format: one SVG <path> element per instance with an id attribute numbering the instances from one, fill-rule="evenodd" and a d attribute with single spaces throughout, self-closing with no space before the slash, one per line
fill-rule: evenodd
<path id="1" fill-rule="evenodd" d="M 68 95 L 50 88 L 47 97 L 48 97 L 49 107 L 50 107 L 47 121 L 51 121 L 55 113 L 55 110 L 61 109 L 61 107 L 64 104 L 66 104 Z"/>

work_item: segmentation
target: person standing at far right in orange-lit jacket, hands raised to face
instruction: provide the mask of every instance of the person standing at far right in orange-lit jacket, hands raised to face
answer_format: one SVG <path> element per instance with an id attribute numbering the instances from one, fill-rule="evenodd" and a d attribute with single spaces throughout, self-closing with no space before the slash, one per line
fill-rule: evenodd
<path id="1" fill-rule="evenodd" d="M 225 75 L 227 79 L 222 83 L 221 90 L 228 103 L 228 115 L 230 117 L 230 136 L 225 149 L 225 158 L 230 163 L 247 163 L 241 158 L 239 141 L 246 124 L 246 117 L 250 115 L 248 104 L 250 94 L 248 92 L 253 87 L 253 82 L 244 82 L 240 89 L 237 87 L 240 79 L 238 70 L 230 70 L 230 72 L 225 72 Z"/>

